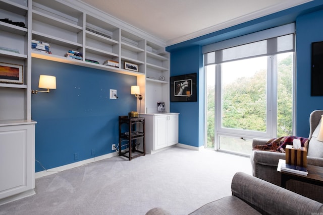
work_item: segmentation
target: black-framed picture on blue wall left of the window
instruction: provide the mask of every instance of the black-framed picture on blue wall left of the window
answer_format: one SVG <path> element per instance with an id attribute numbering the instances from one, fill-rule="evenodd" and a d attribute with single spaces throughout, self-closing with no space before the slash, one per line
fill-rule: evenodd
<path id="1" fill-rule="evenodd" d="M 196 73 L 171 77 L 171 102 L 196 102 Z"/>

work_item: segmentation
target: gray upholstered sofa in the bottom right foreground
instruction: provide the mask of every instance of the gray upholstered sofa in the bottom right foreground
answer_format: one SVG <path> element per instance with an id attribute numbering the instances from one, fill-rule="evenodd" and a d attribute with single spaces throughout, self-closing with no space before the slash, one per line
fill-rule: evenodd
<path id="1" fill-rule="evenodd" d="M 231 190 L 231 196 L 207 203 L 190 214 L 323 214 L 322 203 L 245 173 L 234 175 Z M 167 214 L 171 213 L 158 207 L 146 213 Z"/>

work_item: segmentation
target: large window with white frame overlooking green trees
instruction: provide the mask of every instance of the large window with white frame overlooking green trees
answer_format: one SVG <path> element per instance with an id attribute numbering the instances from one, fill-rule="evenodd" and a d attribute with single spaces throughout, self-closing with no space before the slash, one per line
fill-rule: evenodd
<path id="1" fill-rule="evenodd" d="M 249 155 L 252 138 L 293 133 L 294 34 L 254 40 L 204 55 L 207 148 Z"/>

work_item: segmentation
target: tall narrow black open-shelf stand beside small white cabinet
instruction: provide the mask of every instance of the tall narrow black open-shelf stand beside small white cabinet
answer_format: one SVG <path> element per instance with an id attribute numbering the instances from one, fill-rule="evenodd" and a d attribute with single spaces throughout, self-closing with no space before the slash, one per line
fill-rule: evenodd
<path id="1" fill-rule="evenodd" d="M 128 125 L 127 131 L 122 130 L 123 124 Z M 139 151 L 135 146 L 138 139 L 142 139 L 142 142 L 143 142 L 142 151 Z M 127 140 L 129 142 L 129 151 L 122 152 L 122 149 L 121 149 L 122 140 Z M 146 155 L 145 118 L 143 117 L 129 118 L 128 116 L 119 116 L 119 145 L 120 145 L 119 156 L 129 158 L 129 161 L 131 161 L 131 159 L 133 158 Z"/>

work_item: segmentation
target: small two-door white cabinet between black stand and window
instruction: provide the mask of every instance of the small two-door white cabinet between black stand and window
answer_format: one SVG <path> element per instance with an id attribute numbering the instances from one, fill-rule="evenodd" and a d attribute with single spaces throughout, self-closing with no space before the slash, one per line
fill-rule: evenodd
<path id="1" fill-rule="evenodd" d="M 155 153 L 178 144 L 178 113 L 141 114 L 145 118 L 146 152 Z"/>

